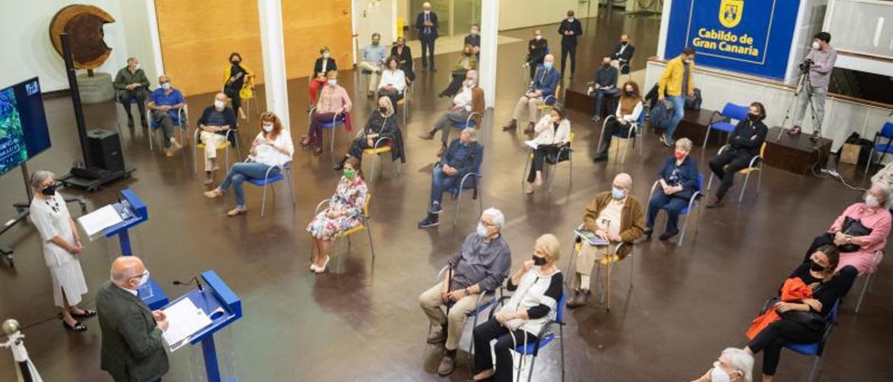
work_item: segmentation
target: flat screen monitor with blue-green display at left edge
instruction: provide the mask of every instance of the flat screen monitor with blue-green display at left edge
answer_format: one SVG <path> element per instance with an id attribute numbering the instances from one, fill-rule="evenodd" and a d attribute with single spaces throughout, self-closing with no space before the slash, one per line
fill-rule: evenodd
<path id="1" fill-rule="evenodd" d="M 0 89 L 0 176 L 49 147 L 38 78 Z"/>

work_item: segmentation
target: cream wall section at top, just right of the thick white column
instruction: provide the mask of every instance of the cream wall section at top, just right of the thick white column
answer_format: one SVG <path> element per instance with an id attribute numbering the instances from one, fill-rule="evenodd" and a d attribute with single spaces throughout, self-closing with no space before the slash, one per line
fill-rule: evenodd
<path id="1" fill-rule="evenodd" d="M 577 3 L 577 0 L 499 0 L 499 30 L 554 24 L 567 17 L 568 10 L 581 15 L 585 9 L 579 11 Z M 543 34 L 555 38 L 550 35 L 557 34 L 557 30 L 543 31 Z"/>

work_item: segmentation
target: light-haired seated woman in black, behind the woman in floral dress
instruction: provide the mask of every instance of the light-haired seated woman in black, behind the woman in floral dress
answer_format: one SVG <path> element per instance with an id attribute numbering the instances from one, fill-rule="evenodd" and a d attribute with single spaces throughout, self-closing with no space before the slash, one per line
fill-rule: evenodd
<path id="1" fill-rule="evenodd" d="M 345 154 L 344 159 L 335 164 L 335 170 L 340 171 L 344 169 L 344 162 L 350 158 L 356 158 L 362 162 L 363 150 L 375 147 L 375 143 L 381 138 L 386 138 L 386 140 L 380 142 L 379 147 L 390 145 L 392 160 L 396 161 L 399 159 L 401 162 L 406 162 L 403 151 L 403 136 L 396 122 L 397 119 L 394 116 L 394 107 L 390 103 L 390 98 L 386 96 L 380 97 L 379 110 L 372 112 L 363 131 L 360 131 L 360 134 L 350 144 L 350 149 Z"/>

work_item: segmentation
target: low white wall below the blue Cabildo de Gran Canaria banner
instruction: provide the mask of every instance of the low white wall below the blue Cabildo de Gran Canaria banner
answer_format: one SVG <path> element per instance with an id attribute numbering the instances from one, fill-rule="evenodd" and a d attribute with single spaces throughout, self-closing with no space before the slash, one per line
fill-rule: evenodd
<path id="1" fill-rule="evenodd" d="M 648 61 L 645 86 L 642 88 L 651 88 L 660 78 L 665 66 L 663 62 Z M 780 126 L 793 95 L 791 87 L 778 82 L 730 77 L 722 71 L 714 69 L 704 71 L 697 67 L 694 74 L 695 86 L 701 89 L 701 94 L 704 96 L 704 103 L 701 104 L 701 107 L 708 110 L 722 110 L 722 106 L 727 102 L 733 104 L 761 102 L 766 106 L 765 122 L 770 128 Z M 730 89 L 734 89 L 734 91 L 730 91 Z M 837 151 L 853 132 L 872 139 L 884 121 L 889 119 L 889 112 L 889 109 L 857 104 L 829 95 L 825 101 L 822 136 L 834 141 L 831 145 L 832 151 Z M 790 118 L 794 118 L 793 110 Z M 804 129 L 807 133 L 812 131 L 809 120 L 807 109 L 804 118 Z M 789 120 L 786 127 L 789 128 L 790 125 L 791 121 Z M 775 139 L 774 137 L 770 138 Z"/>

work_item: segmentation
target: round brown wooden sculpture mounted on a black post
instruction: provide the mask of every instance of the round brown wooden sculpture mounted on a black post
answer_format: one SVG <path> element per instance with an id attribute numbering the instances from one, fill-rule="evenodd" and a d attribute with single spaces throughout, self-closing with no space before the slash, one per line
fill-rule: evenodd
<path id="1" fill-rule="evenodd" d="M 103 40 L 103 25 L 114 22 L 112 15 L 102 9 L 85 4 L 72 4 L 56 12 L 50 21 L 50 40 L 62 55 L 60 33 L 68 33 L 74 67 L 92 71 L 112 54 L 112 48 Z"/>

